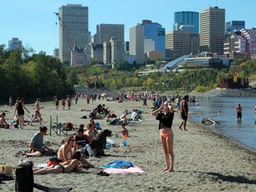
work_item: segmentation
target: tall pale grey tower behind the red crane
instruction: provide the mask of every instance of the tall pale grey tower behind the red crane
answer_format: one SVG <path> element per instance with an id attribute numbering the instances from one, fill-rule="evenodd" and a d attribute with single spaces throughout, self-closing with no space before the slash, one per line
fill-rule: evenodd
<path id="1" fill-rule="evenodd" d="M 62 5 L 59 9 L 60 61 L 70 64 L 71 51 L 76 45 L 84 49 L 90 43 L 88 31 L 88 7 L 82 4 Z M 76 54 L 74 55 L 76 59 Z M 76 61 L 76 64 L 77 63 Z"/>

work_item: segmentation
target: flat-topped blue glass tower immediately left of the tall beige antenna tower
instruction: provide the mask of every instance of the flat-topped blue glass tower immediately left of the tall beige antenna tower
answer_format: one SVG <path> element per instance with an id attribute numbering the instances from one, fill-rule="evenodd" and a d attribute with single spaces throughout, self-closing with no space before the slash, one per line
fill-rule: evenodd
<path id="1" fill-rule="evenodd" d="M 174 12 L 173 30 L 178 29 L 199 34 L 199 12 Z"/>

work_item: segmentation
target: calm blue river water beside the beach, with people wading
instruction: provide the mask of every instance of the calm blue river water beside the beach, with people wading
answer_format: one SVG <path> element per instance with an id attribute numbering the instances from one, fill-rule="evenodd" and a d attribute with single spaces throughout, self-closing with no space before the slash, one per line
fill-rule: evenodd
<path id="1" fill-rule="evenodd" d="M 220 124 L 204 124 L 205 126 L 232 138 L 248 148 L 256 150 L 256 117 L 253 111 L 256 100 L 252 98 L 198 98 L 196 103 L 189 103 L 189 118 L 202 122 L 204 117 L 212 118 Z M 235 107 L 241 103 L 242 121 L 236 120 Z M 219 114 L 219 111 L 221 113 Z M 189 128 L 188 128 L 189 129 Z"/>

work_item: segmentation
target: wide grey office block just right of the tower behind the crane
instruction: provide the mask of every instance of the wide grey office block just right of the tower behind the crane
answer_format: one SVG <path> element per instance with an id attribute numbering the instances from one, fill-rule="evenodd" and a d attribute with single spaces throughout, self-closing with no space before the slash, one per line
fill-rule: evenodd
<path id="1" fill-rule="evenodd" d="M 124 42 L 124 25 L 122 24 L 100 24 L 97 25 L 96 42 L 103 44 L 109 42 L 111 37 Z"/>

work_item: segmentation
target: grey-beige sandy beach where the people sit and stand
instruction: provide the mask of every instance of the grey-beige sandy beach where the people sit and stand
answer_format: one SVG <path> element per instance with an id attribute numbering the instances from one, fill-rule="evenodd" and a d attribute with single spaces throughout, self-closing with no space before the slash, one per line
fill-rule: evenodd
<path id="1" fill-rule="evenodd" d="M 99 103 L 105 104 L 111 112 L 120 116 L 124 109 L 132 111 L 139 108 L 145 113 L 145 121 L 137 124 L 128 124 L 126 128 L 130 137 L 126 139 L 127 146 L 122 145 L 123 138 L 111 137 L 116 143 L 115 148 L 105 150 L 111 156 L 90 157 L 87 160 L 94 164 L 96 169 L 83 172 L 58 173 L 35 175 L 35 182 L 51 188 L 73 188 L 72 191 L 255 191 L 256 190 L 256 152 L 244 148 L 217 132 L 204 128 L 201 124 L 188 121 L 188 132 L 178 129 L 180 115 L 175 113 L 172 129 L 174 132 L 175 172 L 162 172 L 164 169 L 164 154 L 159 140 L 158 121 L 151 116 L 150 108 L 142 106 L 142 101 L 97 100 L 87 104 L 86 100 L 79 99 L 78 104 L 70 110 L 57 110 L 53 102 L 42 102 L 41 110 L 43 125 L 49 127 L 50 116 L 59 122 L 71 122 L 76 127 L 79 124 L 88 124 L 87 110 L 96 108 Z M 151 107 L 151 101 L 148 100 Z M 28 110 L 33 111 L 34 104 L 27 104 Z M 61 106 L 60 106 L 61 107 Z M 81 111 L 81 109 L 86 109 Z M 13 108 L 1 106 L 0 111 L 6 113 L 8 122 L 13 116 Z M 26 114 L 28 116 L 28 114 Z M 131 116 L 131 115 L 130 115 Z M 107 125 L 104 120 L 95 120 L 102 129 L 120 132 L 120 125 Z M 21 157 L 15 156 L 18 151 L 28 150 L 27 143 L 39 124 L 27 124 L 24 130 L 0 129 L 0 163 L 9 163 L 17 166 Z M 74 133 L 74 132 L 70 132 Z M 44 142 L 52 144 L 51 148 L 58 149 L 60 141 L 65 137 L 46 135 Z M 48 156 L 29 157 L 36 164 L 45 164 Z M 102 165 L 113 160 L 131 161 L 140 167 L 144 173 L 110 174 L 100 176 L 97 172 Z M 15 180 L 4 181 L 0 184 L 1 191 L 14 191 Z M 35 191 L 39 191 L 35 189 Z"/>

